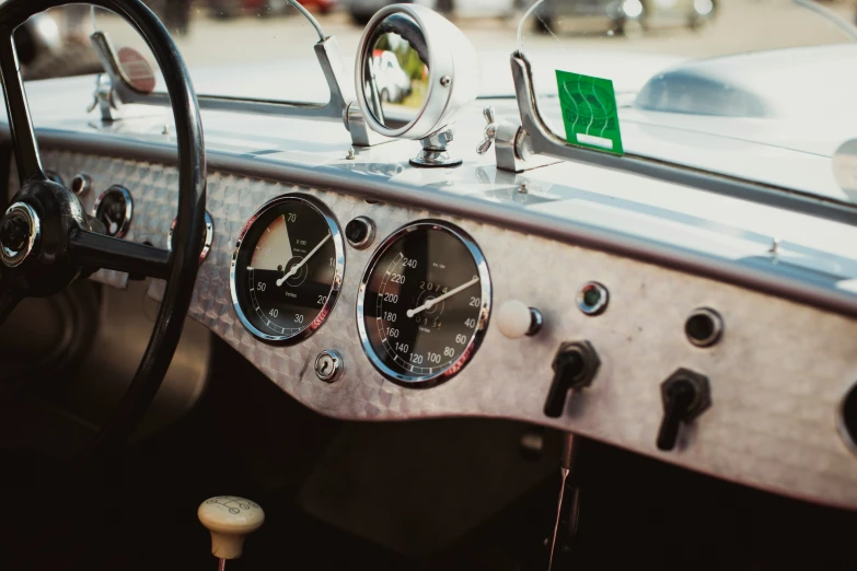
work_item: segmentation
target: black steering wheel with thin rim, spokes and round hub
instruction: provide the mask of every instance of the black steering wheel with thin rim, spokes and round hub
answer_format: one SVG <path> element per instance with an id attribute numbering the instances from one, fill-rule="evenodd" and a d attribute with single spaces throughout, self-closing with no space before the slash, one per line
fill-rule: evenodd
<path id="1" fill-rule="evenodd" d="M 31 16 L 68 0 L 0 3 L 0 82 L 21 189 L 0 219 L 0 325 L 27 296 L 58 293 L 99 268 L 166 279 L 142 360 L 127 393 L 88 454 L 111 453 L 130 435 L 161 386 L 182 335 L 196 282 L 206 213 L 206 154 L 194 86 L 170 33 L 141 0 L 90 0 L 143 37 L 163 73 L 178 139 L 178 214 L 172 253 L 104 234 L 78 197 L 45 175 L 12 34 Z"/>

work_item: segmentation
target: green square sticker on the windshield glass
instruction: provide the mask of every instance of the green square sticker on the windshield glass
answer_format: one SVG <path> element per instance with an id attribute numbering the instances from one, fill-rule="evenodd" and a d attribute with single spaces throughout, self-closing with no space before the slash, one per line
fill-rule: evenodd
<path id="1" fill-rule="evenodd" d="M 613 82 L 557 70 L 556 84 L 566 140 L 571 144 L 622 154 Z"/>

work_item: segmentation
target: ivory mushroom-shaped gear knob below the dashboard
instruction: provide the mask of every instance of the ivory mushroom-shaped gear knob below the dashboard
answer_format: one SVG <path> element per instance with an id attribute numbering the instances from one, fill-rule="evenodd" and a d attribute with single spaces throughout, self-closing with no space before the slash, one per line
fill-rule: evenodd
<path id="1" fill-rule="evenodd" d="M 265 523 L 259 504 L 238 496 L 216 496 L 197 510 L 199 521 L 211 532 L 211 552 L 220 559 L 238 559 L 244 537 Z"/>

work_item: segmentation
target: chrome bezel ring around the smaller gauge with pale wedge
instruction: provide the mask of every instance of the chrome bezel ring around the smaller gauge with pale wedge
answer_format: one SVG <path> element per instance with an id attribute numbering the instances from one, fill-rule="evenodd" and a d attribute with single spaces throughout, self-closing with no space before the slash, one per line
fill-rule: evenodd
<path id="1" fill-rule="evenodd" d="M 297 334 L 271 335 L 259 330 L 251 323 L 251 321 L 246 317 L 246 315 L 244 315 L 244 312 L 241 308 L 241 304 L 239 303 L 238 287 L 235 283 L 235 268 L 238 264 L 239 254 L 241 252 L 241 246 L 242 244 L 244 244 L 244 237 L 247 235 L 251 228 L 253 228 L 253 224 L 256 222 L 256 220 L 258 220 L 259 217 L 262 217 L 273 208 L 276 208 L 286 202 L 294 202 L 294 201 L 305 203 L 306 206 L 309 206 L 310 208 L 319 212 L 322 215 L 322 218 L 324 218 L 325 222 L 327 223 L 327 228 L 331 231 L 331 240 L 333 240 L 334 248 L 336 250 L 336 269 L 334 271 L 333 283 L 331 284 L 331 291 L 327 294 L 327 301 L 325 301 L 324 305 L 322 305 L 321 310 L 319 311 L 319 315 L 315 317 L 315 319 L 313 319 L 306 327 L 304 327 Z M 336 301 L 339 299 L 339 292 L 343 289 L 344 275 L 345 275 L 345 244 L 343 242 L 343 233 L 339 230 L 339 223 L 336 221 L 336 217 L 334 217 L 331 209 L 328 209 L 321 200 L 309 195 L 288 194 L 288 195 L 278 196 L 277 198 L 274 198 L 265 202 L 258 210 L 256 210 L 253 213 L 252 217 L 250 217 L 250 220 L 247 220 L 246 224 L 244 224 L 244 228 L 241 230 L 241 235 L 239 236 L 238 242 L 235 243 L 235 249 L 232 253 L 232 263 L 230 264 L 229 267 L 229 291 L 232 296 L 232 307 L 235 310 L 235 314 L 238 315 L 241 325 L 243 325 L 244 328 L 257 339 L 271 345 L 286 345 L 286 346 L 294 345 L 306 339 L 312 334 L 314 334 L 322 325 L 324 325 L 324 322 L 327 319 L 327 316 L 333 311 L 334 305 L 336 305 Z"/>

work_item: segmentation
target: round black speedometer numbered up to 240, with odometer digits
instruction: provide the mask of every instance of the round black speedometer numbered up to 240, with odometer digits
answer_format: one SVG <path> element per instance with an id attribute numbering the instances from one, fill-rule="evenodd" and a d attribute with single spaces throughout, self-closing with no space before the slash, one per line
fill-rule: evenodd
<path id="1" fill-rule="evenodd" d="M 387 237 L 357 298 L 363 350 L 389 378 L 430 386 L 467 364 L 491 308 L 488 264 L 462 230 L 433 220 Z"/>

